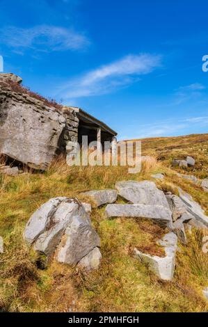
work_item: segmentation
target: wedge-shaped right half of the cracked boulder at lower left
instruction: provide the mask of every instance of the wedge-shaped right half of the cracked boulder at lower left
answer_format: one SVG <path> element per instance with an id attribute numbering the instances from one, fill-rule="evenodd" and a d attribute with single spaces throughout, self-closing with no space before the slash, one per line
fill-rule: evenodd
<path id="1" fill-rule="evenodd" d="M 75 265 L 88 255 L 93 248 L 99 246 L 100 240 L 88 221 L 81 218 L 81 216 L 74 216 L 65 230 L 62 243 L 58 247 L 58 262 Z M 90 257 L 87 260 L 90 260 Z"/>

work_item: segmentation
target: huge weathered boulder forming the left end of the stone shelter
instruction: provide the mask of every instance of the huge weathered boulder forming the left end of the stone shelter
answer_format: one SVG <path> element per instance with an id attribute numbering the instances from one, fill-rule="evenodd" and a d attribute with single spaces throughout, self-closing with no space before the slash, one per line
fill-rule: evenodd
<path id="1" fill-rule="evenodd" d="M 45 170 L 65 128 L 63 113 L 28 94 L 1 85 L 0 154 Z"/>

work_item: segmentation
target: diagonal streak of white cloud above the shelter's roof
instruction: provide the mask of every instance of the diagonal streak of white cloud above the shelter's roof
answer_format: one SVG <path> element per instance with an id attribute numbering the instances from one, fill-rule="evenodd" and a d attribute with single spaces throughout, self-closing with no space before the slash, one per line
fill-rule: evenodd
<path id="1" fill-rule="evenodd" d="M 81 77 L 71 79 L 61 88 L 64 99 L 89 97 L 111 93 L 113 90 L 128 86 L 161 65 L 161 56 L 150 54 L 128 55 L 118 61 L 102 65 Z"/>

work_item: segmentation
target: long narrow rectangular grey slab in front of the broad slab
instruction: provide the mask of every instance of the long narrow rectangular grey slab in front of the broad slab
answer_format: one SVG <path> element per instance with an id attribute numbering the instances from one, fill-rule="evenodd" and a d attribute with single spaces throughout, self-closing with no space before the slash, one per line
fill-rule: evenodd
<path id="1" fill-rule="evenodd" d="M 106 218 L 111 217 L 135 217 L 148 218 L 157 221 L 161 225 L 171 225 L 172 216 L 170 209 L 161 205 L 107 205 Z"/>

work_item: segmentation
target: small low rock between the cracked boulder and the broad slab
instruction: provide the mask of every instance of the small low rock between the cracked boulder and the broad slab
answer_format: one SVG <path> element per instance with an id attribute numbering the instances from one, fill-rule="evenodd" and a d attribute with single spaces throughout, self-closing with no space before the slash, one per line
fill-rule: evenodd
<path id="1" fill-rule="evenodd" d="M 93 200 L 95 207 L 105 205 L 106 203 L 113 203 L 117 199 L 117 191 L 111 189 L 87 191 L 81 193 L 81 195 Z"/>

